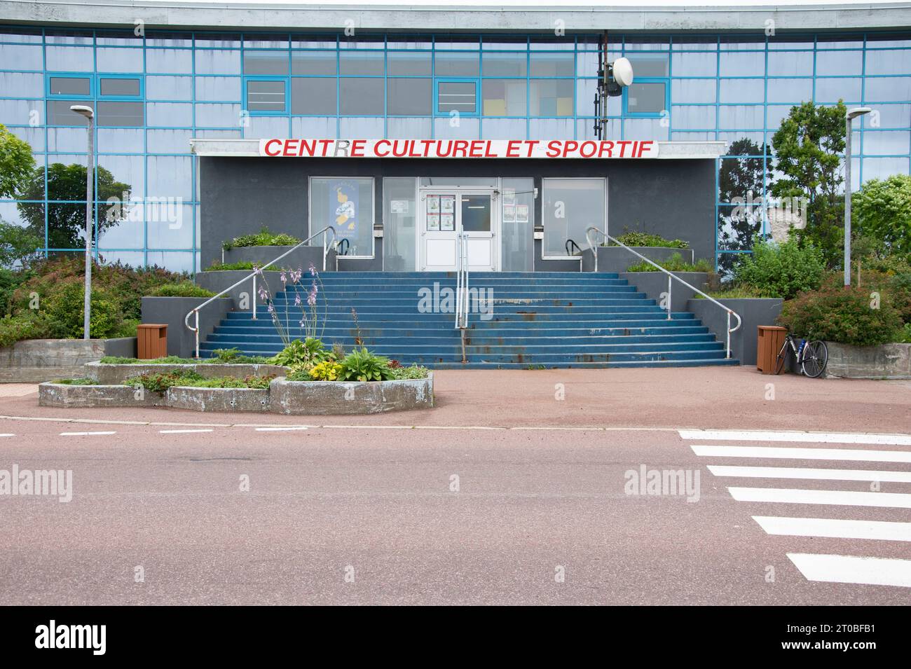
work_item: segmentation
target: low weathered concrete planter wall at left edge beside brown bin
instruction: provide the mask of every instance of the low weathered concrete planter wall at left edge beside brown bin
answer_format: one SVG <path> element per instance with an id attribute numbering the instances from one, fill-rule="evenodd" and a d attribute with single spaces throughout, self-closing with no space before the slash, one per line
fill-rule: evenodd
<path id="1" fill-rule="evenodd" d="M 81 377 L 83 365 L 107 355 L 132 358 L 136 338 L 16 341 L 0 348 L 0 382 L 39 383 Z"/>

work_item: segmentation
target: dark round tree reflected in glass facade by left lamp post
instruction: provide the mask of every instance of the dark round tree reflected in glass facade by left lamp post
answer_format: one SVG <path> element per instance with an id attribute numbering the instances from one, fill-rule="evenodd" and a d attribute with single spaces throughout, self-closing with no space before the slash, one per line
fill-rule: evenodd
<path id="1" fill-rule="evenodd" d="M 97 232 L 101 234 L 107 228 L 118 225 L 127 217 L 126 203 L 132 187 L 114 178 L 105 167 L 98 166 L 96 196 L 101 205 L 95 206 Z M 23 200 L 43 200 L 45 198 L 45 170 L 38 167 L 32 171 Z M 105 204 L 110 198 L 116 198 L 113 204 Z M 86 229 L 86 167 L 81 165 L 63 165 L 54 163 L 47 166 L 47 247 L 48 248 L 82 248 L 85 241 L 79 238 Z M 66 204 L 51 200 L 72 200 Z M 77 203 L 83 202 L 80 207 Z M 121 205 L 120 201 L 124 204 Z M 41 238 L 45 236 L 45 204 L 43 202 L 19 202 L 16 207 L 28 221 L 28 229 Z"/>

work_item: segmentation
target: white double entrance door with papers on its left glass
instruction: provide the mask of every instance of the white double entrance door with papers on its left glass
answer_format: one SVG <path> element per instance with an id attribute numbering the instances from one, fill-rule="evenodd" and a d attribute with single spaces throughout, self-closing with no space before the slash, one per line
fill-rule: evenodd
<path id="1" fill-rule="evenodd" d="M 419 255 L 424 271 L 454 271 L 460 233 L 467 235 L 468 269 L 499 269 L 499 207 L 494 190 L 427 189 L 421 194 Z"/>

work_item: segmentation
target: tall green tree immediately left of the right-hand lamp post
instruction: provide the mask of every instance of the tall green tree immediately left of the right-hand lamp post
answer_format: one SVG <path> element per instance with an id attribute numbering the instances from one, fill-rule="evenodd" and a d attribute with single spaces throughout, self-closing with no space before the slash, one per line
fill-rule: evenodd
<path id="1" fill-rule="evenodd" d="M 846 112 L 840 100 L 836 106 L 793 106 L 772 138 L 775 167 L 782 176 L 773 181 L 770 192 L 776 198 L 805 198 L 808 220 L 799 238 L 820 248 L 831 268 L 843 259 Z"/>

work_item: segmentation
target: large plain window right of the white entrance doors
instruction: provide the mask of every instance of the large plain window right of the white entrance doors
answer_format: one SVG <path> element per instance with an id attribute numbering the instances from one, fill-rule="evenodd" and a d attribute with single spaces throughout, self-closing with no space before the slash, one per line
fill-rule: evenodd
<path id="1" fill-rule="evenodd" d="M 567 255 L 572 239 L 579 248 L 589 248 L 585 230 L 605 222 L 604 179 L 545 178 L 541 202 L 544 222 L 544 255 Z"/>

